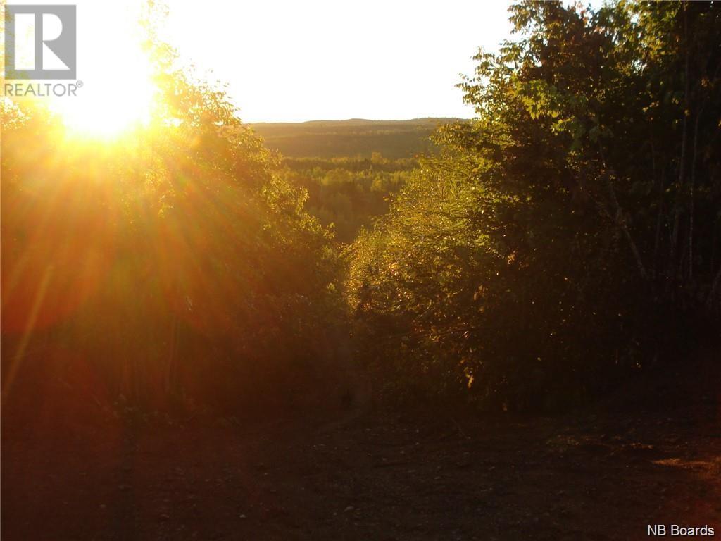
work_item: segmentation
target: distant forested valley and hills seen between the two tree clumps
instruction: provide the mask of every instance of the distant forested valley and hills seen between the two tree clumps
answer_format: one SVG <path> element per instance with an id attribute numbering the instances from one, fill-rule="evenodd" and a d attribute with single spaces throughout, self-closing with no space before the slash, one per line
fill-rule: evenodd
<path id="1" fill-rule="evenodd" d="M 450 118 L 338 120 L 251 124 L 280 152 L 283 175 L 308 193 L 306 208 L 335 239 L 350 242 L 361 227 L 386 214 L 420 154 L 438 146 L 431 135 Z"/>

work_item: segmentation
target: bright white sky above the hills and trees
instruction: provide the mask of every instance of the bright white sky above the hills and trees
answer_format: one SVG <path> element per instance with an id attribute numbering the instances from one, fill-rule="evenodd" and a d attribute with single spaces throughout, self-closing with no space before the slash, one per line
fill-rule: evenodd
<path id="1" fill-rule="evenodd" d="M 77 5 L 84 86 L 62 102 L 76 118 L 97 123 L 115 110 L 122 123 L 123 108 L 110 104 L 147 101 L 133 45 L 142 1 L 43 1 Z M 495 49 L 510 32 L 506 1 L 165 1 L 164 37 L 200 74 L 229 84 L 246 122 L 471 117 L 459 74 L 472 74 L 479 45 Z"/>

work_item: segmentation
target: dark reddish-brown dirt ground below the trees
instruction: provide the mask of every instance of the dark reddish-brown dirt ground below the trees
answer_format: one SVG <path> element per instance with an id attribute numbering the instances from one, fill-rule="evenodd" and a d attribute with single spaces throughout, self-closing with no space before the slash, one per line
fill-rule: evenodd
<path id="1" fill-rule="evenodd" d="M 33 421 L 4 412 L 4 541 L 721 536 L 715 396 L 633 415 L 257 423 L 37 403 Z"/>

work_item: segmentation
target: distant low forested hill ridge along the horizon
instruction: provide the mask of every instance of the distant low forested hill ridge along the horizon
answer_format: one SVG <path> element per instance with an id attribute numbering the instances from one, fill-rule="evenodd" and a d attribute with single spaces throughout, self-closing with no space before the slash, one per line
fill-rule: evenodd
<path id="1" fill-rule="evenodd" d="M 311 120 L 303 123 L 250 124 L 271 149 L 286 157 L 370 158 L 380 152 L 390 159 L 432 151 L 429 136 L 442 124 L 459 118 L 414 120 Z"/>

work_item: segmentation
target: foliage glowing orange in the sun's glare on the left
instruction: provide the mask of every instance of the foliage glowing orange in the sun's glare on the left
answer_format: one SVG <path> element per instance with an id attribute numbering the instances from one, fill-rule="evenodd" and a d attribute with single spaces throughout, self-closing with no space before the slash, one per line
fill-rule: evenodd
<path id="1" fill-rule="evenodd" d="M 165 45 L 149 53 L 151 123 L 110 141 L 4 106 L 5 394 L 57 348 L 115 394 L 211 402 L 262 395 L 327 353 L 337 264 L 306 193 L 222 89 Z"/>

